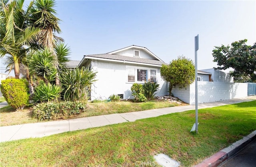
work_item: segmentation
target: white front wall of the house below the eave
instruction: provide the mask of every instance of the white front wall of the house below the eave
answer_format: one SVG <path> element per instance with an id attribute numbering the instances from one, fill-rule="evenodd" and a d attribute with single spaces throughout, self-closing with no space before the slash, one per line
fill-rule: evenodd
<path id="1" fill-rule="evenodd" d="M 91 99 L 108 99 L 112 94 L 124 94 L 124 99 L 133 99 L 130 91 L 133 83 L 127 83 L 126 66 L 130 64 L 123 64 L 118 62 L 106 62 L 100 60 L 92 60 L 92 70 L 98 72 L 96 74 L 96 82 L 91 87 Z M 134 65 L 133 65 L 134 66 Z M 134 66 L 143 69 L 156 69 L 156 80 L 160 85 L 156 96 L 166 95 L 166 82 L 160 77 L 160 67 L 152 66 Z"/>

